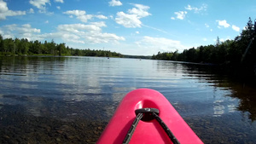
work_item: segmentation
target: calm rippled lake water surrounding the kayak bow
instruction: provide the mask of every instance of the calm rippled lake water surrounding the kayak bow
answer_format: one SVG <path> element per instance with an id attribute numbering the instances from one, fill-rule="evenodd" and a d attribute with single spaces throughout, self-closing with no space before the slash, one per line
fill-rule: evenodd
<path id="1" fill-rule="evenodd" d="M 160 91 L 205 143 L 256 143 L 256 86 L 213 66 L 0 57 L 0 143 L 95 143 L 131 90 Z"/>

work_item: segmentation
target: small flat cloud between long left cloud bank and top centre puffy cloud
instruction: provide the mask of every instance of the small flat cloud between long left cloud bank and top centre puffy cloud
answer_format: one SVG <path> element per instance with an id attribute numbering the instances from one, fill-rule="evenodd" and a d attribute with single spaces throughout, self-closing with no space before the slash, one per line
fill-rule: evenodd
<path id="1" fill-rule="evenodd" d="M 104 16 L 102 14 L 99 14 L 99 15 L 86 14 L 84 10 L 68 10 L 63 14 L 68 14 L 69 17 L 71 18 L 73 18 L 73 15 L 74 15 L 77 17 L 77 19 L 81 20 L 84 23 L 86 23 L 88 20 L 91 20 L 93 17 L 96 17 L 98 19 L 108 19 L 107 16 Z"/>

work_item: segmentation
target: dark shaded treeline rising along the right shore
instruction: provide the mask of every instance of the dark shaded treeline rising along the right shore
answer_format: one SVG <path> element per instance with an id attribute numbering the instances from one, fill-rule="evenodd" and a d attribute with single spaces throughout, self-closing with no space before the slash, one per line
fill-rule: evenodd
<path id="1" fill-rule="evenodd" d="M 234 40 L 217 42 L 213 45 L 185 49 L 182 53 L 164 52 L 153 55 L 155 60 L 179 60 L 197 63 L 211 63 L 224 66 L 250 67 L 255 70 L 256 65 L 256 22 L 249 18 L 247 26 L 241 35 Z"/>

